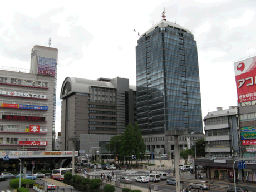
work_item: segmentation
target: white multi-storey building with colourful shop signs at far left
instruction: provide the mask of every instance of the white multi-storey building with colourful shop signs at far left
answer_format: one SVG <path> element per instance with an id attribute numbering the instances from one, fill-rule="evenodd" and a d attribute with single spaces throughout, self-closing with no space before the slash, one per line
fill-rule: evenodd
<path id="1" fill-rule="evenodd" d="M 0 151 L 52 151 L 58 50 L 34 46 L 31 70 L 0 70 Z"/>

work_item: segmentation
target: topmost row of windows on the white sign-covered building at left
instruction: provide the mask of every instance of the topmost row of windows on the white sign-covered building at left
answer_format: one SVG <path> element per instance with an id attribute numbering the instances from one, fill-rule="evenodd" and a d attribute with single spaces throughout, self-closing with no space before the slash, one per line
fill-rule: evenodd
<path id="1" fill-rule="evenodd" d="M 48 82 L 36 81 L 36 80 L 23 80 L 20 78 L 0 77 L 0 83 L 10 83 L 14 85 L 26 85 L 35 87 L 48 87 Z"/>

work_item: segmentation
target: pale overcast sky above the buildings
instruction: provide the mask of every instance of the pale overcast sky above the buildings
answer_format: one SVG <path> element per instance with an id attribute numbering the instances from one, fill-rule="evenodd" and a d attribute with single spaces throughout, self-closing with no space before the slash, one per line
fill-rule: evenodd
<path id="1" fill-rule="evenodd" d="M 29 69 L 34 45 L 58 49 L 56 131 L 66 77 L 129 78 L 136 85 L 137 32 L 166 20 L 198 46 L 203 118 L 237 106 L 234 61 L 256 54 L 255 0 L 6 1 L 0 7 L 0 68 Z M 137 32 L 133 30 L 136 29 Z M 203 124 L 204 125 L 204 124 Z"/>

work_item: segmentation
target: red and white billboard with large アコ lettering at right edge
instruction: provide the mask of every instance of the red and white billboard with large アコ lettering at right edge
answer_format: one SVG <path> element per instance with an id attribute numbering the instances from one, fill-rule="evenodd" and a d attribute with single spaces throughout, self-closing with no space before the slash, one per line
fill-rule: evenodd
<path id="1" fill-rule="evenodd" d="M 256 100 L 256 57 L 234 63 L 238 102 Z"/>

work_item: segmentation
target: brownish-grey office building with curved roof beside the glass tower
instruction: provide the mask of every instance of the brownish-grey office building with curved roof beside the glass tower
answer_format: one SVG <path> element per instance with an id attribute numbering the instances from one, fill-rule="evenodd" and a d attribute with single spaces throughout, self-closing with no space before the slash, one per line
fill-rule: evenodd
<path id="1" fill-rule="evenodd" d="M 136 86 L 129 85 L 126 78 L 67 77 L 60 98 L 63 150 L 72 150 L 70 138 L 80 138 L 81 134 L 120 135 L 129 123 L 136 121 Z M 80 149 L 81 142 L 91 141 L 80 139 L 75 150 Z"/>

